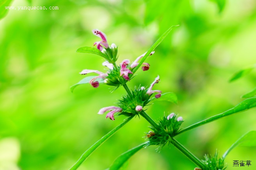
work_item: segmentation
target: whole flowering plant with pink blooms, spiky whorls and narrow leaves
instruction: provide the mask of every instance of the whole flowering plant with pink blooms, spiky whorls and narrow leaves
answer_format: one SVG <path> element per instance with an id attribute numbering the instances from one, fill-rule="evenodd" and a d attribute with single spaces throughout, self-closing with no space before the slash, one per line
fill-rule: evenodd
<path id="1" fill-rule="evenodd" d="M 169 34 L 173 27 L 169 28 L 154 44 L 149 48 L 149 50 L 136 58 L 133 62 L 130 62 L 130 59 L 125 59 L 122 62 L 117 62 L 117 46 L 116 44 L 108 44 L 106 35 L 100 30 L 92 30 L 92 33 L 98 36 L 101 41 L 95 42 L 93 47 L 82 47 L 77 50 L 80 53 L 92 53 L 99 55 L 105 59 L 102 63 L 103 66 L 107 66 L 108 70 L 105 73 L 102 73 L 97 70 L 88 70 L 84 69 L 80 72 L 80 74 L 85 75 L 88 73 L 96 73 L 98 76 L 87 76 L 75 85 L 71 86 L 71 91 L 75 89 L 76 86 L 90 83 L 92 87 L 98 88 L 101 84 L 110 85 L 114 88 L 118 88 L 123 86 L 126 90 L 126 94 L 124 94 L 116 106 L 108 106 L 105 108 L 101 108 L 98 114 L 105 114 L 106 118 L 110 120 L 115 120 L 115 116 L 124 115 L 127 118 L 112 131 L 103 136 L 98 142 L 94 143 L 87 151 L 82 154 L 81 158 L 71 167 L 71 170 L 78 168 L 83 161 L 95 150 L 97 149 L 103 142 L 105 142 L 111 135 L 113 135 L 118 129 L 122 128 L 128 121 L 130 121 L 133 117 L 142 116 L 145 118 L 150 126 L 149 132 L 146 134 L 147 142 L 130 149 L 127 152 L 121 154 L 117 159 L 110 165 L 110 170 L 119 169 L 123 163 L 129 159 L 135 152 L 139 151 L 144 147 L 148 147 L 150 145 L 157 145 L 158 150 L 164 147 L 165 144 L 174 145 L 178 150 L 180 150 L 185 156 L 187 156 L 191 161 L 195 163 L 196 170 L 224 170 L 226 168 L 226 164 L 224 163 L 224 159 L 227 154 L 233 149 L 236 145 L 246 142 L 250 140 L 252 137 L 256 138 L 256 131 L 250 131 L 246 135 L 242 136 L 238 139 L 222 157 L 218 157 L 218 151 L 212 156 L 208 156 L 206 154 L 204 156 L 204 160 L 200 160 L 194 154 L 192 154 L 188 149 L 186 149 L 180 142 L 178 142 L 174 137 L 183 132 L 186 132 L 190 129 L 197 128 L 203 124 L 207 124 L 214 120 L 220 119 L 222 117 L 243 112 L 245 110 L 249 110 L 256 106 L 256 97 L 251 97 L 245 99 L 240 104 L 227 110 L 226 112 L 220 113 L 208 119 L 199 121 L 187 128 L 180 128 L 181 124 L 184 122 L 181 116 L 178 116 L 176 113 L 171 113 L 167 116 L 163 116 L 160 120 L 153 120 L 144 110 L 144 107 L 147 106 L 150 102 L 158 100 L 160 97 L 162 100 L 168 100 L 173 103 L 177 102 L 177 97 L 174 93 L 168 92 L 162 94 L 161 90 L 155 90 L 156 84 L 160 82 L 160 75 L 156 76 L 155 80 L 152 80 L 152 83 L 148 87 L 135 87 L 134 89 L 130 89 L 126 83 L 132 80 L 135 76 L 135 72 L 138 69 L 142 69 L 143 71 L 147 71 L 150 68 L 149 63 L 144 62 L 147 57 L 153 55 L 155 53 L 154 49 L 158 46 L 162 40 Z M 157 74 L 156 74 L 157 75 Z M 159 85 L 158 85 L 159 88 Z M 254 141 L 254 145 L 256 145 L 256 141 Z"/>

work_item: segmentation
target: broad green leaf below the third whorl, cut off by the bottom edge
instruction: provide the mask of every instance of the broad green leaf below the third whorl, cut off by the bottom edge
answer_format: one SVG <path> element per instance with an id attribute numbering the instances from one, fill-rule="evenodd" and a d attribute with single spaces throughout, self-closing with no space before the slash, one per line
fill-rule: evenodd
<path id="1" fill-rule="evenodd" d="M 138 152 L 140 149 L 142 149 L 148 142 L 144 142 L 126 152 L 118 156 L 112 165 L 109 167 L 109 170 L 117 170 L 121 168 L 121 166 L 129 159 L 131 158 L 136 152 Z"/>

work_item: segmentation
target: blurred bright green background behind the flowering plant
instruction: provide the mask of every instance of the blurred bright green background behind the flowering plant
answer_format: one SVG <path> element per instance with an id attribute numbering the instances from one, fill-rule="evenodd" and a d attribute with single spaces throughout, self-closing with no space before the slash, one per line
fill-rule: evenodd
<path id="1" fill-rule="evenodd" d="M 3 1 L 2 1 L 3 2 Z M 30 4 L 31 3 L 31 4 Z M 187 127 L 222 113 L 256 86 L 256 71 L 229 83 L 231 76 L 256 63 L 255 0 L 13 0 L 8 6 L 58 6 L 59 10 L 8 10 L 0 20 L 0 169 L 64 170 L 70 168 L 94 142 L 120 124 L 98 115 L 116 105 L 123 88 L 69 87 L 85 76 L 83 69 L 105 71 L 103 58 L 75 53 L 100 39 L 119 46 L 119 59 L 135 60 L 172 25 L 167 38 L 146 62 L 149 71 L 137 72 L 130 88 L 150 85 L 175 92 L 178 105 L 155 102 L 147 113 L 158 119 L 176 112 Z M 5 9 L 1 8 L 1 11 Z M 6 12 L 6 11 L 5 11 Z M 91 74 L 93 75 L 93 74 Z M 256 110 L 217 120 L 176 137 L 198 158 L 222 155 L 247 131 L 256 130 Z M 103 170 L 121 153 L 145 141 L 149 124 L 131 120 L 96 150 L 80 170 Z M 173 146 L 161 152 L 151 146 L 135 154 L 127 170 L 192 170 L 196 166 Z M 226 158 L 251 160 L 256 148 L 237 147 Z"/>

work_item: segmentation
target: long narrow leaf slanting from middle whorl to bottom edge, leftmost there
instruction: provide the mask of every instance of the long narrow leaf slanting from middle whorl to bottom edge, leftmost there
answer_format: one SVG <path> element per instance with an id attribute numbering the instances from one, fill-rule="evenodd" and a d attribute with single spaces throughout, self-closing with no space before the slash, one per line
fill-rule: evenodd
<path id="1" fill-rule="evenodd" d="M 114 128 L 112 131 L 108 132 L 105 136 L 103 136 L 100 140 L 98 140 L 96 143 L 94 143 L 87 151 L 82 154 L 82 156 L 78 159 L 78 161 L 69 169 L 69 170 L 76 170 L 84 161 L 86 158 L 88 158 L 93 151 L 95 151 L 100 145 L 105 142 L 110 136 L 114 135 L 117 130 L 122 128 L 127 122 L 129 122 L 133 116 L 128 117 L 123 121 L 123 123 L 119 124 L 116 128 Z"/>

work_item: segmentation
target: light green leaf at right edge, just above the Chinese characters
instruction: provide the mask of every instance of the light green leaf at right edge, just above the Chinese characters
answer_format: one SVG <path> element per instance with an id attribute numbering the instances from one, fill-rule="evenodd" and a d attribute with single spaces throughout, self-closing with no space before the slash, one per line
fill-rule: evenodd
<path id="1" fill-rule="evenodd" d="M 256 146 L 256 131 L 250 131 L 241 136 L 231 147 L 223 154 L 223 158 L 226 158 L 228 153 L 238 145 L 243 146 Z"/>

